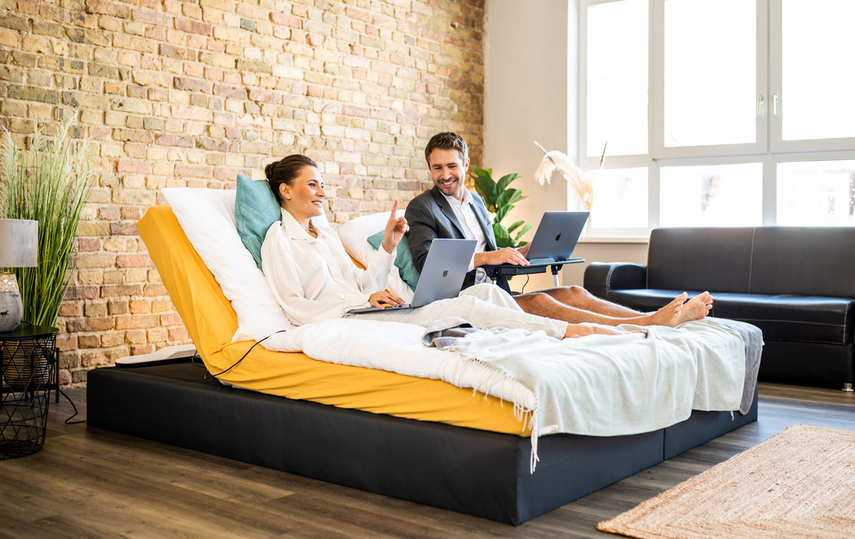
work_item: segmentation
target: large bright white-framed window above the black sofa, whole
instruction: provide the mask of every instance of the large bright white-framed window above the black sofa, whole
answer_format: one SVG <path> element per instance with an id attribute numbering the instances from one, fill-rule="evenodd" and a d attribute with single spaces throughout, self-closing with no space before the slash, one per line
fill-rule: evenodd
<path id="1" fill-rule="evenodd" d="M 855 1 L 581 0 L 579 21 L 594 235 L 855 225 Z"/>

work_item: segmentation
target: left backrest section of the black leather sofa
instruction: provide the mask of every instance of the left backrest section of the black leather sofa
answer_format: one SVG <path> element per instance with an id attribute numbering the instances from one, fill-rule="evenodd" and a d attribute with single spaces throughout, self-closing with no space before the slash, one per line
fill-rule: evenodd
<path id="1" fill-rule="evenodd" d="M 647 287 L 749 292 L 754 228 L 656 228 Z"/>

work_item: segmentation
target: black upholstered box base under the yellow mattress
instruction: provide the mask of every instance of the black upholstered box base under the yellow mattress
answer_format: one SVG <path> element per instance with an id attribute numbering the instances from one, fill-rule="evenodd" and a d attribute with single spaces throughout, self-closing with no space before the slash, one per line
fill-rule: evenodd
<path id="1" fill-rule="evenodd" d="M 522 524 L 757 419 L 694 412 L 640 435 L 528 438 L 228 388 L 190 362 L 91 370 L 88 424 Z"/>

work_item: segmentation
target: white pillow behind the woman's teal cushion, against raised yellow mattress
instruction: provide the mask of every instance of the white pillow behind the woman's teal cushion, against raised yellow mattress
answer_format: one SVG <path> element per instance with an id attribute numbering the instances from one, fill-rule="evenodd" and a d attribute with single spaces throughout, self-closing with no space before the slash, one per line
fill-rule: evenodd
<path id="1" fill-rule="evenodd" d="M 232 190 L 169 187 L 162 190 L 187 239 L 238 315 L 232 341 L 259 341 L 294 326 L 276 303 L 267 279 L 240 240 Z M 327 225 L 327 218 L 316 218 Z"/>

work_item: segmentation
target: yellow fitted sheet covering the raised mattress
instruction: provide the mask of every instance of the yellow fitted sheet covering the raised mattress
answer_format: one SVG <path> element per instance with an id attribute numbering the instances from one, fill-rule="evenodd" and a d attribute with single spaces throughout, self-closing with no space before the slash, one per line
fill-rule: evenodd
<path id="1" fill-rule="evenodd" d="M 187 240 L 169 206 L 150 208 L 137 228 L 208 370 L 226 370 L 253 341 L 232 342 L 238 317 L 214 275 Z M 512 404 L 502 406 L 494 397 L 485 400 L 483 394 L 473 396 L 471 389 L 386 370 L 326 363 L 304 353 L 271 352 L 263 343 L 221 378 L 289 399 L 472 429 L 531 434 L 522 431 Z"/>

